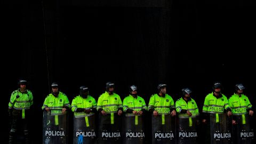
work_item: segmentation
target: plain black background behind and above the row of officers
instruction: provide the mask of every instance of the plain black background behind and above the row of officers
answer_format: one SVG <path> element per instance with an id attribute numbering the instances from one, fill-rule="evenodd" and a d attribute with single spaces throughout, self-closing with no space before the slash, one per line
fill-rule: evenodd
<path id="1" fill-rule="evenodd" d="M 89 86 L 97 100 L 108 81 L 122 99 L 137 85 L 147 104 L 159 83 L 168 85 L 174 101 L 189 87 L 200 111 L 214 82 L 223 84 L 227 97 L 241 82 L 256 105 L 255 1 L 1 3 L 3 143 L 9 133 L 7 103 L 19 78 L 28 79 L 34 94 L 34 143 L 42 143 L 41 107 L 52 82 L 70 104 L 79 86 Z"/>

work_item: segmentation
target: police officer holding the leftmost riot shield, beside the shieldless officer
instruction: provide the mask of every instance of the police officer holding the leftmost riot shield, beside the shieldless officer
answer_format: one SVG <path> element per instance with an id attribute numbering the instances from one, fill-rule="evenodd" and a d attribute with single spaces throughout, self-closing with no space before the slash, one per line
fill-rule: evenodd
<path id="1" fill-rule="evenodd" d="M 58 83 L 52 83 L 52 93 L 47 95 L 42 109 L 43 116 L 43 142 L 68 142 L 68 115 L 70 103 L 65 93 L 59 91 Z M 56 133 L 56 134 L 55 134 Z"/>

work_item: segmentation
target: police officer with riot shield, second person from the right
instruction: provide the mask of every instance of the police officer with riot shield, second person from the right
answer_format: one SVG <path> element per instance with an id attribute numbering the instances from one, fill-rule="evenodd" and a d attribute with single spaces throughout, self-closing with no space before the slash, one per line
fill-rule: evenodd
<path id="1" fill-rule="evenodd" d="M 228 116 L 232 115 L 228 99 L 221 93 L 221 83 L 214 83 L 212 89 L 213 92 L 207 94 L 204 100 L 202 123 L 206 125 L 206 135 L 203 138 L 205 143 L 230 143 L 231 130 L 225 113 L 227 111 Z"/>

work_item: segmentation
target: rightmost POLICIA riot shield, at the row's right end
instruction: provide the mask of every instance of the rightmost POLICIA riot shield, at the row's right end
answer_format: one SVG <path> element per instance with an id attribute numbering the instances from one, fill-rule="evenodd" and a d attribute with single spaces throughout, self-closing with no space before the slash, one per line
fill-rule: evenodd
<path id="1" fill-rule="evenodd" d="M 250 119 L 250 116 L 247 114 L 233 115 L 233 118 L 237 123 L 236 125 L 233 125 L 233 143 L 253 143 L 254 130 L 253 126 L 251 126 L 252 119 Z"/>

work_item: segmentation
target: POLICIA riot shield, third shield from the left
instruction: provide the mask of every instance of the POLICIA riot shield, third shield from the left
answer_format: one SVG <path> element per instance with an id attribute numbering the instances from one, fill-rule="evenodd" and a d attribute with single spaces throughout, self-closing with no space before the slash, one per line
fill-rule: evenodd
<path id="1" fill-rule="evenodd" d="M 122 143 L 121 126 L 122 116 L 117 113 L 99 114 L 99 144 Z"/>

